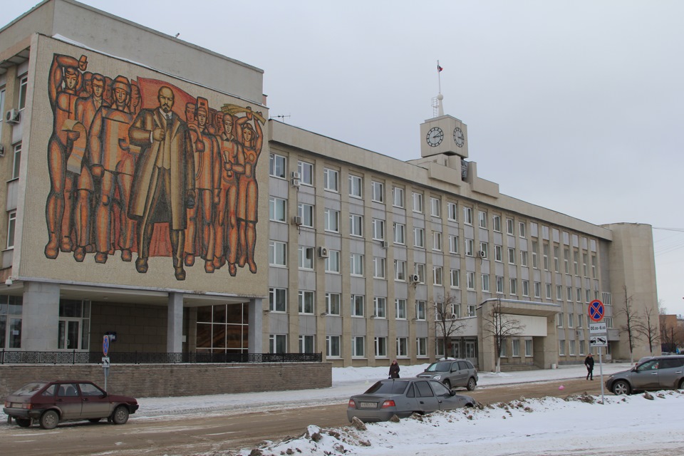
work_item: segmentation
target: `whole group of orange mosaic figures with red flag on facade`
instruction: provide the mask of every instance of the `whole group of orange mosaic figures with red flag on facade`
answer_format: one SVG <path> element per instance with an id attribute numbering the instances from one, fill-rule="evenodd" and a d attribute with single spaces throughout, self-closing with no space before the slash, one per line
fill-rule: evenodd
<path id="1" fill-rule="evenodd" d="M 119 257 L 140 274 L 170 257 L 179 281 L 192 266 L 256 274 L 261 113 L 92 70 L 53 55 L 45 256 Z"/>

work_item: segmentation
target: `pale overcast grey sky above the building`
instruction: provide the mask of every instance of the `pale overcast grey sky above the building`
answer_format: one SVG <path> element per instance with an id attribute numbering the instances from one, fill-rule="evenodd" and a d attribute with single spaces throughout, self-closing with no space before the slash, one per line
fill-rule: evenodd
<path id="1" fill-rule="evenodd" d="M 675 229 L 653 230 L 658 298 L 684 314 L 684 1 L 83 3 L 257 66 L 271 117 L 400 160 L 420 157 L 439 60 L 502 193 Z"/>

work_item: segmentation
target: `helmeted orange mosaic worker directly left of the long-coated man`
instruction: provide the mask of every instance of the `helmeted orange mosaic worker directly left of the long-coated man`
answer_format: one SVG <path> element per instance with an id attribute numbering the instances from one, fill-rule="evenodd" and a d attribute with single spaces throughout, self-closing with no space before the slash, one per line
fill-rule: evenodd
<path id="1" fill-rule="evenodd" d="M 105 263 L 116 247 L 121 249 L 121 259 L 131 260 L 133 247 L 133 220 L 128 217 L 128 199 L 133 184 L 135 156 L 128 147 L 128 128 L 133 115 L 128 112 L 130 82 L 125 76 L 112 81 L 114 104 L 98 110 L 88 132 L 90 169 L 100 181 L 100 199 L 95 209 L 95 262 Z M 120 212 L 113 219 L 115 191 L 118 190 Z M 118 225 L 118 246 L 112 239 L 113 224 Z"/>

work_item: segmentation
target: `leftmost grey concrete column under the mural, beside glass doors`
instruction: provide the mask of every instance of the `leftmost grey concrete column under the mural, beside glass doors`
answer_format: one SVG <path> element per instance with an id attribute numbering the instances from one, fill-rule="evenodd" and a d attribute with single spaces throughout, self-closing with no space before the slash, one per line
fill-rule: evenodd
<path id="1" fill-rule="evenodd" d="M 57 349 L 59 285 L 27 281 L 21 309 L 21 348 L 26 351 Z"/>

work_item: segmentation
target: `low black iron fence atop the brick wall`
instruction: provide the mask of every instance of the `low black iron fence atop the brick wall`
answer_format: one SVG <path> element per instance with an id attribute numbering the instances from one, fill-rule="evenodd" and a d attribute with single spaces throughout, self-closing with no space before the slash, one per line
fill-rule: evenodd
<path id="1" fill-rule="evenodd" d="M 321 363 L 323 353 L 109 353 L 110 363 Z M 0 364 L 99 364 L 101 351 L 5 351 Z"/>

